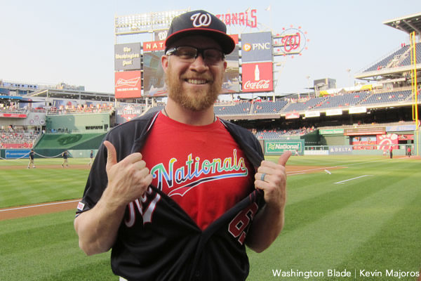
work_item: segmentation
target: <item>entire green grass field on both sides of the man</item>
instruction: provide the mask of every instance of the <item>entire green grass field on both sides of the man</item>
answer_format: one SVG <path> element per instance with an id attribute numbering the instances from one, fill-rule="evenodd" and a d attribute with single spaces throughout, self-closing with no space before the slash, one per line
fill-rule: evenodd
<path id="1" fill-rule="evenodd" d="M 22 169 L 0 169 L 0 208 L 81 197 L 87 169 L 28 170 L 20 161 Z M 37 164 L 44 161 L 61 165 Z M 79 161 L 88 163 L 69 159 Z M 288 164 L 335 168 L 288 176 L 285 228 L 263 253 L 248 251 L 248 280 L 417 280 L 408 275 L 421 268 L 420 159 L 304 156 Z M 73 218 L 64 211 L 0 221 L 0 280 L 118 280 L 109 253 L 81 252 Z M 319 276 L 282 275 L 291 272 Z"/>

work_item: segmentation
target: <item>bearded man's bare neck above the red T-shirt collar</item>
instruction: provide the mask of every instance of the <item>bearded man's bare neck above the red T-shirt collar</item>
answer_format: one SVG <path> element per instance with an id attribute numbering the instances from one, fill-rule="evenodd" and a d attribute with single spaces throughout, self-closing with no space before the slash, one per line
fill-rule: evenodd
<path id="1" fill-rule="evenodd" d="M 192 111 L 181 107 L 178 103 L 171 100 L 171 98 L 168 98 L 168 102 L 162 112 L 177 122 L 192 126 L 204 126 L 216 121 L 213 106 L 201 111 Z"/>

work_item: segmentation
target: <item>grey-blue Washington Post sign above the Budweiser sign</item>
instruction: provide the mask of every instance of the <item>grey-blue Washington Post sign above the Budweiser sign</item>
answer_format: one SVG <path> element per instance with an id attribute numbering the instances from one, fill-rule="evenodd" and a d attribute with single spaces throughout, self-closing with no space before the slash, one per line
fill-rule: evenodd
<path id="1" fill-rule="evenodd" d="M 140 43 L 114 45 L 114 70 L 140 70 Z"/>

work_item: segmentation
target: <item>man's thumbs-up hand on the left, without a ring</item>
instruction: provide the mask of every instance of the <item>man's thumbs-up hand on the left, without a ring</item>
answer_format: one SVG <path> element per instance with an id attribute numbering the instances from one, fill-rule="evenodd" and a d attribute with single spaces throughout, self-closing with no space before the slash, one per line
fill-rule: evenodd
<path id="1" fill-rule="evenodd" d="M 140 152 L 128 155 L 117 162 L 114 145 L 109 141 L 104 141 L 104 145 L 107 148 L 107 193 L 113 202 L 125 206 L 145 193 L 152 183 L 152 175 L 149 174 Z"/>

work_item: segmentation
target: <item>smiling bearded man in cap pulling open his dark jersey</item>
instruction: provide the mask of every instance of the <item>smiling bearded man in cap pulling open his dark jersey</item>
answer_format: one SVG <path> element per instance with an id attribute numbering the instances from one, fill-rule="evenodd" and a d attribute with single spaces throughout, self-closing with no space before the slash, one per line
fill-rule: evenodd
<path id="1" fill-rule="evenodd" d="M 214 15 L 174 18 L 166 106 L 116 126 L 98 150 L 74 227 L 86 254 L 112 248 L 126 280 L 245 280 L 245 244 L 260 252 L 281 232 L 290 152 L 263 161 L 252 133 L 213 113 L 234 48 Z"/>

